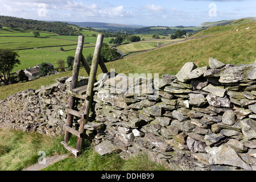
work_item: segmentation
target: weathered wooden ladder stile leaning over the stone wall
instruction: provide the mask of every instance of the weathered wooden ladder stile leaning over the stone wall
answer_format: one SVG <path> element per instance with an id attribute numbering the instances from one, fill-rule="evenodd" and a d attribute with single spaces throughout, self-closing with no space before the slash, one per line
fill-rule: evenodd
<path id="1" fill-rule="evenodd" d="M 85 58 L 82 55 L 84 36 L 82 35 L 79 36 L 79 42 L 77 44 L 75 61 L 73 65 L 71 90 L 67 90 L 67 93 L 69 95 L 69 108 L 66 109 L 68 113 L 67 125 L 63 127 L 65 130 L 65 138 L 64 138 L 64 141 L 61 142 L 61 144 L 63 144 L 63 146 L 68 151 L 72 152 L 72 154 L 75 156 L 79 155 L 79 152 L 82 149 L 82 143 L 84 142 L 84 139 L 85 139 L 84 125 L 86 125 L 86 123 L 88 123 L 88 120 L 89 120 L 89 111 L 90 111 L 90 106 L 93 100 L 93 87 L 94 87 L 94 83 L 96 82 L 98 65 L 100 65 L 102 72 L 108 73 L 108 69 L 106 68 L 104 61 L 102 61 L 100 56 L 103 39 L 104 39 L 104 36 L 102 34 L 99 34 L 97 38 L 96 47 L 94 50 L 91 68 L 86 63 Z M 82 63 L 83 67 L 85 68 L 85 71 L 88 73 L 89 81 L 88 81 L 88 85 L 77 88 L 80 63 Z M 82 111 L 75 110 L 76 98 L 85 100 L 84 108 L 82 109 Z M 72 128 L 74 116 L 81 118 L 79 131 Z M 77 137 L 76 148 L 72 148 L 67 144 L 71 134 L 76 135 Z"/>

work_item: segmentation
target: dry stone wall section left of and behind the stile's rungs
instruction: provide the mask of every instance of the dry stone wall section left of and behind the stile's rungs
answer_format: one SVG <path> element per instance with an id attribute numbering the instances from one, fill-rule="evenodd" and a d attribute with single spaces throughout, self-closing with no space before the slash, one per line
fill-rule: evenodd
<path id="1" fill-rule="evenodd" d="M 79 78 L 80 85 L 87 82 L 88 78 Z M 0 128 L 63 135 L 69 99 L 66 89 L 70 89 L 70 85 L 71 78 L 57 78 L 55 84 L 42 86 L 38 90 L 27 89 L 0 101 Z M 78 101 L 80 110 L 82 102 Z M 78 126 L 78 122 L 79 119 L 76 119 L 74 127 Z"/>

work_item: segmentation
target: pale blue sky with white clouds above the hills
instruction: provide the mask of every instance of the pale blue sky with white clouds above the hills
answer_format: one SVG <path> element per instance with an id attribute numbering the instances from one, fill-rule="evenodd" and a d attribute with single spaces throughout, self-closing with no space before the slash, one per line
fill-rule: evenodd
<path id="1" fill-rule="evenodd" d="M 0 15 L 68 22 L 200 26 L 256 16 L 256 0 L 0 0 Z"/>

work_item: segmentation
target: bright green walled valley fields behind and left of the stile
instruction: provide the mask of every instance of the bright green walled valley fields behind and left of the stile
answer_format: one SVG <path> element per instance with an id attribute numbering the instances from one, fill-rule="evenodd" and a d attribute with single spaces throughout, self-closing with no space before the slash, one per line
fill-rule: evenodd
<path id="1" fill-rule="evenodd" d="M 10 31 L 12 33 L 3 33 Z M 13 49 L 18 51 L 20 55 L 21 64 L 15 67 L 12 72 L 24 69 L 25 65 L 27 68 L 32 68 L 42 62 L 51 63 L 56 68 L 57 60 L 66 60 L 68 56 L 75 56 L 78 36 L 59 36 L 43 32 L 40 33 L 40 37 L 35 38 L 30 32 L 20 31 L 24 30 L 18 28 L 0 29 L 0 48 Z M 111 38 L 105 38 L 104 42 L 109 43 L 110 40 Z M 96 41 L 97 38 L 95 37 L 85 37 L 84 56 L 93 54 Z M 60 51 L 61 47 L 65 52 Z"/>

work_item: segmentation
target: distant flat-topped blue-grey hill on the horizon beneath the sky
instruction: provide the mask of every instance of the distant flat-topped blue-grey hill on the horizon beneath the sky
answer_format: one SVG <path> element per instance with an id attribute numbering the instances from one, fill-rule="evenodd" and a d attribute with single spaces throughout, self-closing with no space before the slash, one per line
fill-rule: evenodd
<path id="1" fill-rule="evenodd" d="M 101 23 L 101 22 L 65 22 L 69 24 L 75 24 L 80 27 L 92 27 L 92 28 L 141 28 L 146 26 L 141 25 L 127 25 L 127 24 L 117 24 L 117 23 Z"/>

